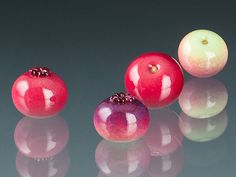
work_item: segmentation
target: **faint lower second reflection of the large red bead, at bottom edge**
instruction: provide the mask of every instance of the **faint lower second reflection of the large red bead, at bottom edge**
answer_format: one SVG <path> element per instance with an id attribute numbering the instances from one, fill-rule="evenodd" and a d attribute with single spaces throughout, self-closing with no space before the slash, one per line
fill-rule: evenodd
<path id="1" fill-rule="evenodd" d="M 149 177 L 177 177 L 184 166 L 182 148 L 172 154 L 152 157 L 148 169 Z"/>

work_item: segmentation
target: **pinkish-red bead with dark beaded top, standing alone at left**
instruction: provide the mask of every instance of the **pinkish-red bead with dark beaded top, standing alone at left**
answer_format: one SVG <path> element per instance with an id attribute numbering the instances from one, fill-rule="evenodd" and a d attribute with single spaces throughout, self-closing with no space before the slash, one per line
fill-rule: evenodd
<path id="1" fill-rule="evenodd" d="M 54 116 L 66 104 L 68 92 L 64 81 L 46 67 L 35 67 L 19 76 L 12 87 L 15 107 L 25 116 Z"/>

